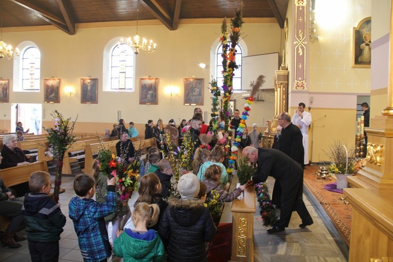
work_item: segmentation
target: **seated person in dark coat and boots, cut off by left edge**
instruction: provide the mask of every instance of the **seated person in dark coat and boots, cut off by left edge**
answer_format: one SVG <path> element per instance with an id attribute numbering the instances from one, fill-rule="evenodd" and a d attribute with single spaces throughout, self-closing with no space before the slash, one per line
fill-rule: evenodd
<path id="1" fill-rule="evenodd" d="M 0 163 L 2 163 L 2 159 L 2 155 L 0 154 Z M 21 244 L 15 241 L 26 240 L 25 237 L 20 237 L 15 233 L 23 219 L 22 205 L 23 199 L 15 198 L 11 190 L 5 186 L 2 178 L 0 178 L 0 215 L 11 217 L 11 222 L 2 238 L 2 246 L 19 248 Z"/>

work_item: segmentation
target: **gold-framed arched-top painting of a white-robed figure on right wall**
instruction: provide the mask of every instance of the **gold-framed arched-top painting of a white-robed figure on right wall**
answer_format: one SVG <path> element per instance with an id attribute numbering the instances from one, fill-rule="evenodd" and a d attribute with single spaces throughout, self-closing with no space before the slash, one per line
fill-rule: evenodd
<path id="1" fill-rule="evenodd" d="M 371 67 L 371 17 L 353 27 L 352 67 Z"/>

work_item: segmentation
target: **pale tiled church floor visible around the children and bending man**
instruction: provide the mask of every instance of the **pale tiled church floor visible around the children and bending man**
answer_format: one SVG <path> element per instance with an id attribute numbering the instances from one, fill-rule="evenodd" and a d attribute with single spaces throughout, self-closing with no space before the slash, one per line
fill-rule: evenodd
<path id="1" fill-rule="evenodd" d="M 64 187 L 66 191 L 60 195 L 61 210 L 67 217 L 64 232 L 61 234 L 60 240 L 59 261 L 63 262 L 83 261 L 79 251 L 78 238 L 74 231 L 73 222 L 68 218 L 68 202 L 75 196 L 73 179 L 74 177 L 72 176 L 63 176 L 62 187 Z M 268 180 L 268 183 L 269 187 L 273 188 L 274 180 Z M 136 199 L 137 193 L 134 193 L 129 202 L 130 206 L 134 204 Z M 294 212 L 289 228 L 287 228 L 284 232 L 277 234 L 266 233 L 266 227 L 262 225 L 262 220 L 259 219 L 259 210 L 257 210 L 254 221 L 254 249 L 256 262 L 347 261 L 334 241 L 334 237 L 329 233 L 325 224 L 318 216 L 316 209 L 311 205 L 306 197 L 305 203 L 314 219 L 314 224 L 308 226 L 306 229 L 300 229 L 298 225 L 301 223 L 301 220 L 297 213 Z M 228 208 L 224 209 L 224 213 L 227 213 L 227 209 Z M 224 214 L 221 222 L 231 222 L 230 214 Z M 129 220 L 126 228 L 131 227 L 132 222 Z M 111 228 L 109 231 L 111 231 Z M 25 234 L 24 231 L 21 231 L 20 233 L 21 235 Z M 27 241 L 20 243 L 22 244 L 22 247 L 17 249 L 0 247 L 0 261 L 30 261 Z M 117 262 L 122 261 L 122 259 L 113 256 L 108 258 L 108 261 Z"/>

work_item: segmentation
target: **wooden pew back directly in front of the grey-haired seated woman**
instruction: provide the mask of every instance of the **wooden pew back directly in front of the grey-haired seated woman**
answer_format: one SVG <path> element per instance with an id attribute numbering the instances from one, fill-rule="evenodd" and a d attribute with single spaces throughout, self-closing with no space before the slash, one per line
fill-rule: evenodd
<path id="1" fill-rule="evenodd" d="M 48 172 L 46 161 L 39 161 L 29 165 L 15 166 L 0 170 L 0 177 L 7 187 L 18 185 L 28 182 L 30 174 L 35 171 Z M 64 192 L 64 189 L 62 190 Z M 11 219 L 6 216 L 0 215 L 0 231 L 5 231 Z"/>

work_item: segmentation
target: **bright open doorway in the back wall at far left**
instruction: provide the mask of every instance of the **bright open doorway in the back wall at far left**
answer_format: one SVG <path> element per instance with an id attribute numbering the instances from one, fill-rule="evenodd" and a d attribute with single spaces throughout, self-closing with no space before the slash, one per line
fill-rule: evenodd
<path id="1" fill-rule="evenodd" d="M 29 133 L 42 134 L 42 104 L 40 103 L 12 103 L 11 104 L 11 132 L 16 123 L 21 122 L 24 130 Z"/>

